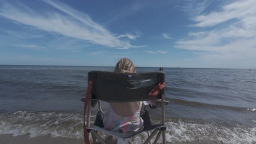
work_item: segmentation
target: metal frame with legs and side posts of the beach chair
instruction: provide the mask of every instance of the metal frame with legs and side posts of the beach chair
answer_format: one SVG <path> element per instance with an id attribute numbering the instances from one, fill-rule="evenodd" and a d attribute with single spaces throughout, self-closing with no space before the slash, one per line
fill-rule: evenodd
<path id="1" fill-rule="evenodd" d="M 90 71 L 91 72 L 100 72 L 100 73 L 104 73 L 103 71 Z M 88 73 L 88 74 L 89 74 Z M 103 113 L 102 109 L 101 109 L 101 105 L 100 105 L 100 101 L 99 99 L 94 99 L 92 98 L 91 95 L 91 87 L 92 87 L 92 83 L 93 81 L 88 80 L 88 89 L 86 92 L 86 96 L 89 97 L 88 99 L 88 104 L 86 104 L 86 97 L 82 99 L 82 101 L 84 101 L 84 137 L 86 139 L 86 133 L 90 133 L 91 132 L 91 136 L 92 136 L 92 141 L 94 143 L 96 143 L 96 140 L 100 141 L 101 143 L 106 143 L 102 137 L 100 135 L 97 134 L 97 130 L 91 128 L 90 126 L 90 122 L 91 122 L 91 107 L 92 107 L 92 101 L 97 100 L 97 104 L 98 104 L 98 109 L 101 113 Z M 89 86 L 91 85 L 91 86 Z M 161 125 L 163 127 L 160 128 L 156 128 L 154 129 L 153 133 L 150 135 L 149 131 L 148 132 L 148 139 L 144 142 L 144 144 L 146 143 L 150 143 L 151 144 L 151 140 L 152 138 L 156 135 L 156 138 L 154 140 L 154 143 L 157 143 L 160 135 L 162 135 L 162 143 L 166 143 L 166 122 L 165 122 L 165 105 L 169 102 L 167 100 L 165 100 L 165 94 L 161 93 L 161 100 L 158 100 L 158 102 L 161 104 Z M 87 108 L 87 111 L 86 111 Z M 85 118 L 86 118 L 86 124 L 85 124 Z M 86 128 L 87 127 L 87 128 Z M 89 131 L 89 132 L 88 132 Z M 106 131 L 105 131 L 106 132 Z M 139 134 L 139 133 L 138 133 Z M 137 135 L 137 134 L 136 134 Z M 89 141 L 89 135 L 87 134 L 88 137 L 88 141 L 85 140 L 85 143 L 90 143 Z"/>

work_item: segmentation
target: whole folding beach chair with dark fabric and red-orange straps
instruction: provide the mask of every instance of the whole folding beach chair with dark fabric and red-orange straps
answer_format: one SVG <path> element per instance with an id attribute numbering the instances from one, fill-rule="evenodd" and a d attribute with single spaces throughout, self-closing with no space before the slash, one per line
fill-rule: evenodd
<path id="1" fill-rule="evenodd" d="M 168 101 L 165 100 L 165 74 L 163 73 L 111 73 L 106 71 L 90 71 L 88 73 L 88 88 L 84 101 L 84 140 L 85 143 L 90 143 L 89 133 L 92 135 L 92 140 L 100 143 L 107 143 L 97 133 L 104 133 L 120 139 L 130 139 L 144 131 L 153 131 L 144 143 L 151 143 L 150 140 L 156 135 L 154 143 L 156 143 L 162 134 L 162 143 L 166 143 L 165 139 L 165 105 Z M 129 133 L 117 133 L 103 129 L 102 110 L 100 101 L 108 103 L 127 103 L 132 101 L 157 101 L 161 106 L 161 123 L 154 124 L 148 114 L 145 112 L 143 116 L 144 128 L 141 131 Z M 90 125 L 91 107 L 98 104 L 99 112 L 96 115 L 94 125 Z M 87 111 L 87 122 L 85 124 Z"/>

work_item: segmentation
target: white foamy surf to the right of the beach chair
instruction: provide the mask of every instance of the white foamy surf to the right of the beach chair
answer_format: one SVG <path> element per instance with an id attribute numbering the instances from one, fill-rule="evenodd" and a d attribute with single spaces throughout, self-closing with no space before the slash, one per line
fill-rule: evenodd
<path id="1" fill-rule="evenodd" d="M 167 122 L 167 141 L 190 142 L 190 141 L 213 141 L 216 143 L 238 144 L 255 143 L 256 128 L 248 128 L 240 124 L 226 123 L 194 123 Z"/>

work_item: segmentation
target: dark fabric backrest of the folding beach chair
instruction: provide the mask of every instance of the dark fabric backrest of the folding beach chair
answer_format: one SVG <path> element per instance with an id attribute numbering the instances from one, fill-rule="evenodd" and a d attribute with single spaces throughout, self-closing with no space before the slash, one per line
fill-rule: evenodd
<path id="1" fill-rule="evenodd" d="M 93 81 L 92 99 L 111 103 L 129 101 L 144 101 L 161 99 L 162 89 L 155 97 L 150 97 L 152 91 L 160 82 L 165 82 L 163 73 L 112 73 L 107 71 L 90 71 L 88 81 Z"/>

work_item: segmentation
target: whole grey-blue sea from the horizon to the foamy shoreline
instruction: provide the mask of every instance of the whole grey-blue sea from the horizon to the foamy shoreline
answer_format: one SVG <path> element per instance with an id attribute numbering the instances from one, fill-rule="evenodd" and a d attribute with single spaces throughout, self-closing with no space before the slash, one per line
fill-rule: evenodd
<path id="1" fill-rule="evenodd" d="M 92 70 L 114 67 L 0 65 L 0 135 L 83 139 L 80 99 Z M 167 143 L 256 143 L 256 69 L 136 67 L 143 72 L 166 75 Z M 149 111 L 159 121 L 161 110 Z"/>

